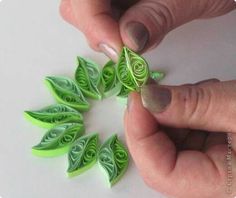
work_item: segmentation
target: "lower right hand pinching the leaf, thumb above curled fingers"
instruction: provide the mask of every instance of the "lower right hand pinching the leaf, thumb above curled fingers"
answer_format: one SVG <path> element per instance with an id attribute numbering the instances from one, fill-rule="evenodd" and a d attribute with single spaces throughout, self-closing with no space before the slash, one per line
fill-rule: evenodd
<path id="1" fill-rule="evenodd" d="M 176 198 L 236 196 L 236 182 L 229 183 L 236 178 L 235 119 L 236 81 L 218 80 L 148 84 L 141 97 L 129 96 L 124 118 L 128 148 L 144 181 Z M 226 133 L 232 137 L 231 173 Z"/>

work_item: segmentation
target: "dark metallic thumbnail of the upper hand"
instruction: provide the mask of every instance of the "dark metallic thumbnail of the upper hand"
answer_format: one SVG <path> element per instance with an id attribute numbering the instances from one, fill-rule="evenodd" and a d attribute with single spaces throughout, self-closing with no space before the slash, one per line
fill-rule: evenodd
<path id="1" fill-rule="evenodd" d="M 149 39 L 149 33 L 147 28 L 139 22 L 130 22 L 126 25 L 125 31 L 128 34 L 130 40 L 136 46 L 135 51 L 142 51 Z"/>

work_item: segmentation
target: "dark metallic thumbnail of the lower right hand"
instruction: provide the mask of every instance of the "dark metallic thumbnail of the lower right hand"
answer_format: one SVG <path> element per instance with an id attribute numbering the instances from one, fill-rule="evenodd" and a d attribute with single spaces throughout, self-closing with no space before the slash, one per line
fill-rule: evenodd
<path id="1" fill-rule="evenodd" d="M 161 113 L 171 103 L 171 91 L 157 84 L 148 84 L 141 88 L 143 106 L 153 113 Z"/>

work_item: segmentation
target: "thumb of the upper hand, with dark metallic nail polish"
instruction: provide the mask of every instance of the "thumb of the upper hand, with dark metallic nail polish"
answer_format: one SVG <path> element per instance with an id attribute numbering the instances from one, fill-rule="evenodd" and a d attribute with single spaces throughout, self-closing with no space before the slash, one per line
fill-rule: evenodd
<path id="1" fill-rule="evenodd" d="M 121 18 L 121 37 L 128 47 L 143 52 L 184 23 L 222 15 L 234 8 L 233 0 L 141 0 Z"/>

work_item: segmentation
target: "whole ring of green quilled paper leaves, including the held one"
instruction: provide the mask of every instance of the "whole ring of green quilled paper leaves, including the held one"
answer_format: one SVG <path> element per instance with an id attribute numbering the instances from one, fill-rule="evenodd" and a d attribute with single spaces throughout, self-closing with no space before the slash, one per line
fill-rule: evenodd
<path id="1" fill-rule="evenodd" d="M 128 151 L 116 134 L 102 145 L 98 133 L 84 135 L 82 113 L 91 108 L 89 99 L 116 96 L 126 104 L 130 91 L 140 91 L 149 78 L 161 80 L 164 73 L 149 71 L 144 58 L 124 47 L 118 63 L 110 60 L 102 69 L 91 60 L 77 57 L 74 77 L 74 80 L 63 76 L 46 77 L 45 84 L 58 103 L 24 112 L 32 124 L 48 129 L 32 147 L 32 154 L 56 157 L 67 153 L 69 177 L 87 171 L 98 162 L 112 186 L 128 168 Z"/>

